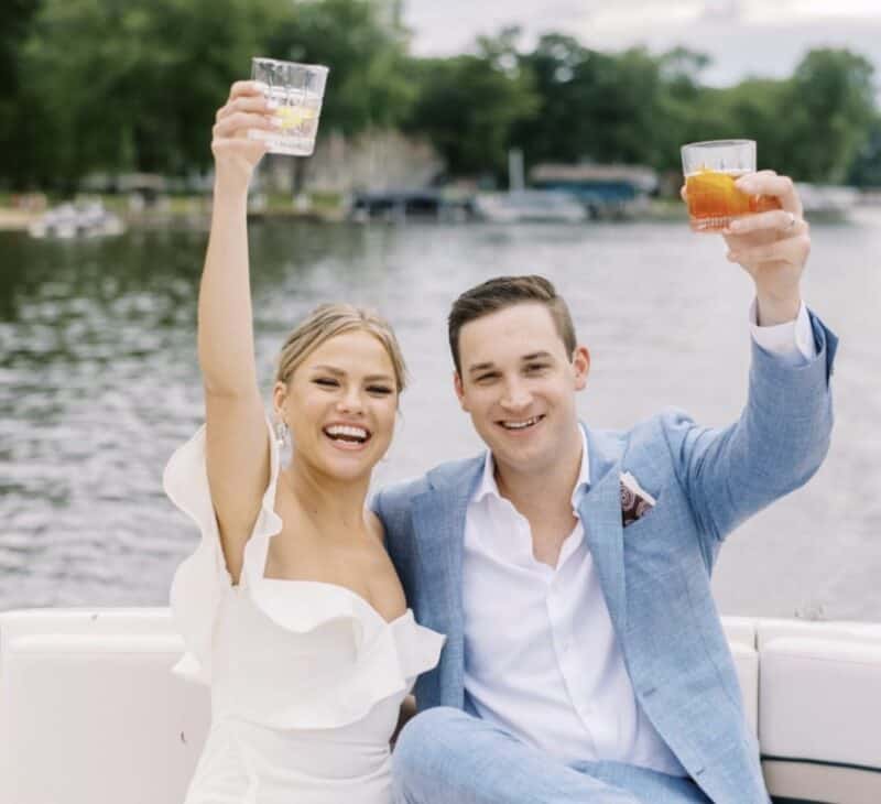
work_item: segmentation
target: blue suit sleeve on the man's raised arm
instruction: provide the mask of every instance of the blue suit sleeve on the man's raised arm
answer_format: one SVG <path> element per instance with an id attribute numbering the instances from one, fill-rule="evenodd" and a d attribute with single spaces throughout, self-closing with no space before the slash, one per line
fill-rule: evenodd
<path id="1" fill-rule="evenodd" d="M 701 533 L 721 541 L 773 500 L 803 486 L 829 448 L 829 379 L 836 336 L 811 314 L 816 357 L 788 366 L 752 344 L 749 399 L 729 427 L 699 427 L 679 415 L 666 437 Z"/>

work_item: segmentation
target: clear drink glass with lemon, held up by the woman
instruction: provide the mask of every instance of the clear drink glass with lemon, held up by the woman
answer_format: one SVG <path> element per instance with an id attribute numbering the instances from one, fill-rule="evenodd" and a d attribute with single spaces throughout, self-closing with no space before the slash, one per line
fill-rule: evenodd
<path id="1" fill-rule="evenodd" d="M 254 58 L 251 77 L 264 87 L 281 126 L 276 131 L 253 129 L 248 135 L 262 140 L 270 153 L 308 156 L 315 150 L 322 115 L 327 67 L 273 58 Z"/>

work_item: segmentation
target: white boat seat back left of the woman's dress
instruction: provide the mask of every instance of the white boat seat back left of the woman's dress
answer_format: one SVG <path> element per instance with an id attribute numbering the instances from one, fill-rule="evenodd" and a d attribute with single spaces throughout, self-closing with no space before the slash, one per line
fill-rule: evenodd
<path id="1" fill-rule="evenodd" d="M 181 639 L 21 626 L 0 665 L 0 801 L 180 804 L 210 710 L 207 687 L 171 674 Z"/>

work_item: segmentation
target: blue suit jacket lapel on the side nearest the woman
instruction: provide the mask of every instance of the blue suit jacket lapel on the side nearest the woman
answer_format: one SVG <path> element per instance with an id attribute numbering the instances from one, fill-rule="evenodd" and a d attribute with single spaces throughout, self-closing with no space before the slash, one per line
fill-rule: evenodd
<path id="1" fill-rule="evenodd" d="M 447 635 L 438 669 L 438 703 L 459 708 L 465 693 L 465 520 L 482 466 L 481 457 L 465 464 L 454 477 L 432 472 L 432 488 L 413 500 L 414 543 L 421 567 L 417 595 L 423 601 L 421 622 Z"/>

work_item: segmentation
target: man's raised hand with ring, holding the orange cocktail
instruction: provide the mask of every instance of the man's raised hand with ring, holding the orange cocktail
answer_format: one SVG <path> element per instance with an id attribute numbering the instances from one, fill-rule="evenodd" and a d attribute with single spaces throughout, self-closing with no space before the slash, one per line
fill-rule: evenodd
<path id="1" fill-rule="evenodd" d="M 782 209 L 732 221 L 722 232 L 728 259 L 739 263 L 755 282 L 761 326 L 793 320 L 802 305 L 801 280 L 811 252 L 809 227 L 802 217 L 802 202 L 792 180 L 774 171 L 748 173 L 736 185 L 750 195 L 775 197 Z"/>

